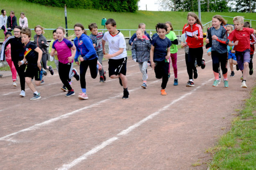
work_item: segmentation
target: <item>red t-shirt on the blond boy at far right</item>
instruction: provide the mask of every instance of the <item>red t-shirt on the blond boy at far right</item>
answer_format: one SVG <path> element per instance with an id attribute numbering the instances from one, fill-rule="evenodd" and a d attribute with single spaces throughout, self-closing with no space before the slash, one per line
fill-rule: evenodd
<path id="1" fill-rule="evenodd" d="M 235 42 L 238 40 L 238 45 L 234 47 L 236 51 L 245 51 L 250 49 L 250 35 L 254 32 L 254 29 L 243 28 L 242 31 L 233 30 L 228 39 Z"/>

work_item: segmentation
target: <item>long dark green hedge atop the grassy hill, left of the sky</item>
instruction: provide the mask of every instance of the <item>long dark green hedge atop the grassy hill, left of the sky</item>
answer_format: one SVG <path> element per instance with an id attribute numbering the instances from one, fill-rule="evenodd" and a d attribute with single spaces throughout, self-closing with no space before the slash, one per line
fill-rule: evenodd
<path id="1" fill-rule="evenodd" d="M 136 12 L 138 0 L 26 0 L 28 2 L 52 6 L 83 9 L 100 9 L 113 12 Z"/>

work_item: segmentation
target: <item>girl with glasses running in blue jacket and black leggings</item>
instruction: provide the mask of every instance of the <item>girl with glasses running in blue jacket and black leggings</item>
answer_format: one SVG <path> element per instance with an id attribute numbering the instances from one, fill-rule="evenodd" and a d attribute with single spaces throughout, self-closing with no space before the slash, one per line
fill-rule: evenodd
<path id="1" fill-rule="evenodd" d="M 102 70 L 102 65 L 98 61 L 97 53 L 93 47 L 93 41 L 90 39 L 88 35 L 84 34 L 84 26 L 82 24 L 74 25 L 75 31 L 75 40 L 74 44 L 76 46 L 76 54 L 75 54 L 75 63 L 79 65 L 78 57 L 80 60 L 80 84 L 82 88 L 82 93 L 79 93 L 78 99 L 88 99 L 88 95 L 86 94 L 86 81 L 85 74 L 87 68 L 89 66 L 91 77 L 95 79 L 98 74 L 98 70 Z"/>

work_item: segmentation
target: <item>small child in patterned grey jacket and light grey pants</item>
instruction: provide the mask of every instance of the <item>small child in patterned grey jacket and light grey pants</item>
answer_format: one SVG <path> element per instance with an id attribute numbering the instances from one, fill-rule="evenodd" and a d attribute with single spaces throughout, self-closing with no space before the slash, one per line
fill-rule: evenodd
<path id="1" fill-rule="evenodd" d="M 143 29 L 137 29 L 136 36 L 134 42 L 131 47 L 131 55 L 132 59 L 135 62 L 138 62 L 140 72 L 143 74 L 143 84 L 142 88 L 147 88 L 147 62 L 150 60 L 150 40 L 143 38 L 144 31 Z"/>

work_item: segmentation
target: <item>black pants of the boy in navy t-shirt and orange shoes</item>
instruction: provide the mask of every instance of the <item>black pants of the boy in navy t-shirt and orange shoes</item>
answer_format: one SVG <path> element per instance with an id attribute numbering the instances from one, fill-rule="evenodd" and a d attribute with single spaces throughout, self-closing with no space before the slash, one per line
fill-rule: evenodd
<path id="1" fill-rule="evenodd" d="M 161 79 L 162 78 L 162 84 L 161 87 L 165 89 L 166 84 L 168 82 L 168 69 L 169 69 L 169 63 L 165 62 L 165 60 L 158 62 L 154 61 L 156 63 L 156 66 L 154 68 L 156 78 Z"/>

